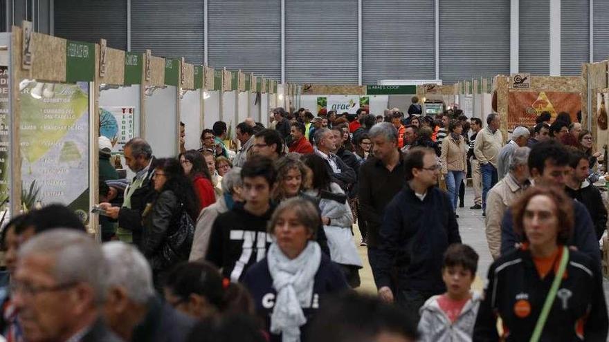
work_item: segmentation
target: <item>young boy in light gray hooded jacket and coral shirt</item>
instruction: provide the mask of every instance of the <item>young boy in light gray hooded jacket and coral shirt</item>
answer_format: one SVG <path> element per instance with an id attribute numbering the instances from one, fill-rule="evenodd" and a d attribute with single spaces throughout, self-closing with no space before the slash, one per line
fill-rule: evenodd
<path id="1" fill-rule="evenodd" d="M 429 298 L 421 307 L 419 341 L 471 341 L 482 297 L 471 293 L 478 254 L 455 243 L 444 253 L 442 280 L 446 293 Z"/>

